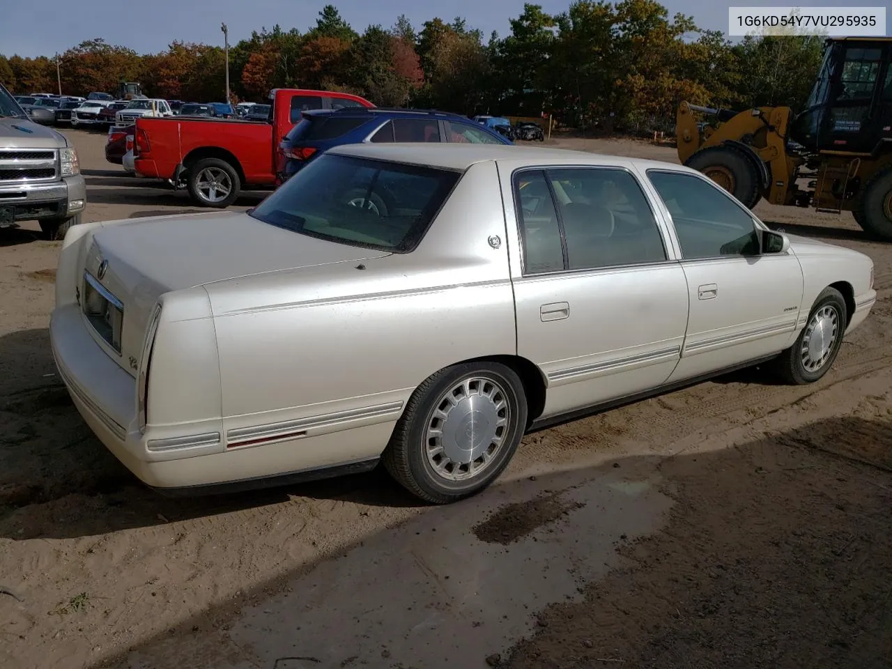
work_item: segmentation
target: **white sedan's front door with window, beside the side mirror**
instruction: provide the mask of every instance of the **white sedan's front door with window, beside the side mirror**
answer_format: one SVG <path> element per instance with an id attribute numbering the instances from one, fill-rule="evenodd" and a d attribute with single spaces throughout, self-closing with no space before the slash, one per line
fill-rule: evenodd
<path id="1" fill-rule="evenodd" d="M 670 381 L 764 358 L 795 339 L 802 268 L 792 251 L 764 252 L 751 212 L 710 179 L 648 169 L 665 204 L 688 280 L 690 318 Z"/>

